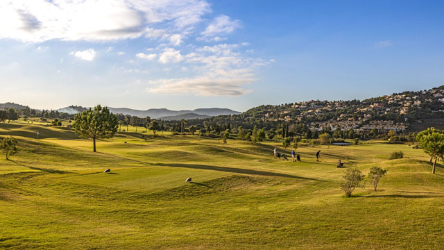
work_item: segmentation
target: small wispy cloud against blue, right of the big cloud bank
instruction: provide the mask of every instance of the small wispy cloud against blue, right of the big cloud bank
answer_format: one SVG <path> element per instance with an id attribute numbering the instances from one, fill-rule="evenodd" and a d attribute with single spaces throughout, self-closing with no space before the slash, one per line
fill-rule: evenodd
<path id="1" fill-rule="evenodd" d="M 232 20 L 226 15 L 220 15 L 213 19 L 213 21 L 205 28 L 205 31 L 200 33 L 206 40 L 220 41 L 219 35 L 226 35 L 232 33 L 236 28 L 241 27 L 239 20 Z"/>

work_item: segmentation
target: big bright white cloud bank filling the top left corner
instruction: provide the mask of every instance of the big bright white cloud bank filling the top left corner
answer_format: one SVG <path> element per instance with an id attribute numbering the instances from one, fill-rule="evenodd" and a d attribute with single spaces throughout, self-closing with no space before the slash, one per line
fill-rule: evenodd
<path id="1" fill-rule="evenodd" d="M 205 0 L 2 0 L 0 38 L 24 42 L 159 38 L 167 30 L 187 31 L 207 12 L 210 5 Z"/>

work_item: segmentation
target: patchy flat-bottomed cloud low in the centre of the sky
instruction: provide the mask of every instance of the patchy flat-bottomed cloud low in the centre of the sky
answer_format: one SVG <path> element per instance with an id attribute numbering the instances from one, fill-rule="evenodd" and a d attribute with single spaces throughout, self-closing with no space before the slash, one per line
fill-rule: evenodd
<path id="1" fill-rule="evenodd" d="M 163 78 L 148 81 L 150 93 L 195 94 L 200 96 L 239 96 L 251 90 L 245 85 L 256 81 L 255 69 L 267 63 L 244 58 L 236 49 L 239 44 L 216 44 L 197 48 L 183 56 L 189 70 L 196 76 Z M 183 67 L 182 67 L 183 69 Z"/>

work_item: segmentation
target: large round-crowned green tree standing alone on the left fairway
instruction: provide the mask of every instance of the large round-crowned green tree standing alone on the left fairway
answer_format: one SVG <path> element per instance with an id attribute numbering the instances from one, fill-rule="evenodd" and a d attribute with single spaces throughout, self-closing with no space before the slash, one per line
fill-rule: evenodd
<path id="1" fill-rule="evenodd" d="M 117 117 L 100 105 L 74 116 L 73 127 L 80 138 L 91 138 L 96 151 L 96 139 L 112 138 L 119 128 Z"/>

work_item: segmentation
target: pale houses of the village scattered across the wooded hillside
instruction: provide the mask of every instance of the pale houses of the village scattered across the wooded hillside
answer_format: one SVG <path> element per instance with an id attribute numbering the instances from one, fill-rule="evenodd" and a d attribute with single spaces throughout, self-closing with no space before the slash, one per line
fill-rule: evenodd
<path id="1" fill-rule="evenodd" d="M 279 106 L 259 106 L 247 118 L 268 123 L 304 123 L 313 131 L 330 129 L 368 133 L 407 131 L 409 123 L 444 117 L 444 86 L 402 92 L 363 101 L 302 101 Z"/>

